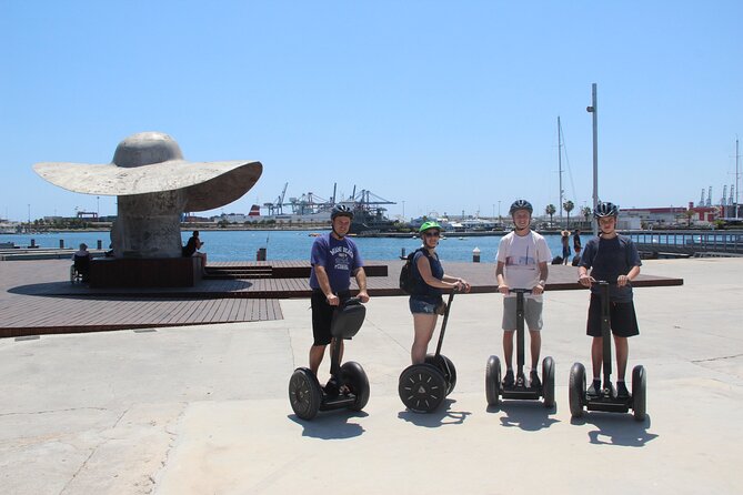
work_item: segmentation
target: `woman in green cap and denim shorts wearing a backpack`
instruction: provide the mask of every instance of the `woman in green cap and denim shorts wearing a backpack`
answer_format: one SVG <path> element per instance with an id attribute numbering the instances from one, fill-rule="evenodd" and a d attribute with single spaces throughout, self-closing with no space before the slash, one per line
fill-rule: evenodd
<path id="1" fill-rule="evenodd" d="M 412 273 L 418 283 L 411 291 L 409 302 L 415 331 L 413 346 L 410 350 L 413 364 L 425 361 L 436 320 L 445 309 L 443 290 L 470 292 L 470 284 L 464 279 L 446 275 L 439 261 L 436 245 L 441 236 L 441 225 L 436 222 L 424 222 L 418 232 L 423 245 L 415 251 L 412 260 Z"/>

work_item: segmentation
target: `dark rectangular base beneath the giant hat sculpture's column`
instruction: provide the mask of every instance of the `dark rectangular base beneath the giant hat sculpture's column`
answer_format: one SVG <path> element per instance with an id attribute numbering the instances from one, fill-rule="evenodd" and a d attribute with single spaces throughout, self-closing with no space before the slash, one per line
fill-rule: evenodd
<path id="1" fill-rule="evenodd" d="M 103 257 L 90 262 L 90 286 L 192 287 L 201 280 L 201 259 Z"/>

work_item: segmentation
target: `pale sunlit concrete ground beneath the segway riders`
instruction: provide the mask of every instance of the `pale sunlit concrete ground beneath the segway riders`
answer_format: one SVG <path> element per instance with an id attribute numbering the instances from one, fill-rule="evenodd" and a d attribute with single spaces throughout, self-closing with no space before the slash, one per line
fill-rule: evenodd
<path id="1" fill-rule="evenodd" d="M 0 492 L 8 494 L 740 493 L 743 259 L 649 261 L 683 286 L 635 290 L 647 420 L 571 420 L 568 378 L 590 370 L 586 291 L 546 295 L 543 355 L 556 408 L 489 408 L 485 362 L 502 356 L 498 294 L 456 296 L 443 353 L 456 388 L 405 411 L 404 297 L 376 297 L 347 347 L 371 381 L 363 412 L 298 420 L 287 386 L 307 364 L 308 300 L 284 320 L 0 340 Z M 432 345 L 433 346 L 433 345 Z M 327 378 L 323 363 L 321 381 Z"/>

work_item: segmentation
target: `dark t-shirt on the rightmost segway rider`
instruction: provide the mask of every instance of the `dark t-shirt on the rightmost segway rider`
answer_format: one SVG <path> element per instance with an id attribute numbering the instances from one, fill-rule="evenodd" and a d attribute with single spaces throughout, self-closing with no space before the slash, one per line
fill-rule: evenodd
<path id="1" fill-rule="evenodd" d="M 632 301 L 630 284 L 618 287 L 616 279 L 630 273 L 633 266 L 641 266 L 637 246 L 630 238 L 616 235 L 613 239 L 592 238 L 585 243 L 580 266 L 591 270 L 591 276 L 609 282 L 609 296 L 613 302 Z M 600 293 L 599 284 L 591 286 L 591 292 Z"/>

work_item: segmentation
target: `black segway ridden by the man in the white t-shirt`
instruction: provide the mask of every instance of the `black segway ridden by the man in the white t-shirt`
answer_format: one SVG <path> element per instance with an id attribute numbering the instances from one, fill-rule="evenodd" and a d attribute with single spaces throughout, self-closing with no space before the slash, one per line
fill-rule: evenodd
<path id="1" fill-rule="evenodd" d="M 526 385 L 524 375 L 524 294 L 528 289 L 512 289 L 516 294 L 516 376 L 513 385 L 501 383 L 501 361 L 490 356 L 485 366 L 485 397 L 488 405 L 498 406 L 500 397 L 520 401 L 539 401 L 544 398 L 544 407 L 554 406 L 554 360 L 546 356 L 542 360 L 542 386 Z"/>

